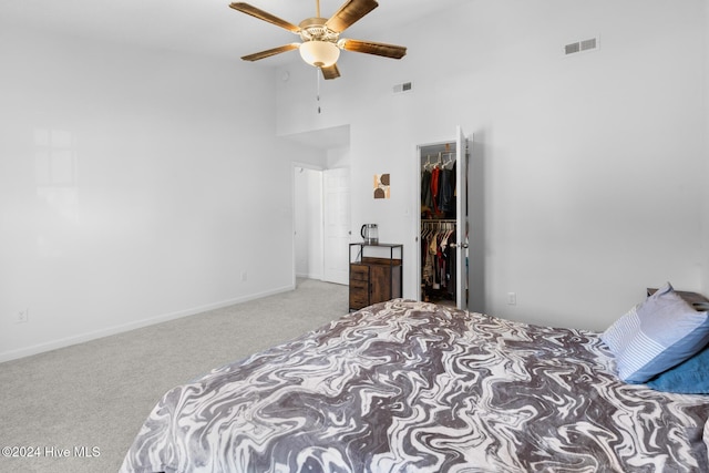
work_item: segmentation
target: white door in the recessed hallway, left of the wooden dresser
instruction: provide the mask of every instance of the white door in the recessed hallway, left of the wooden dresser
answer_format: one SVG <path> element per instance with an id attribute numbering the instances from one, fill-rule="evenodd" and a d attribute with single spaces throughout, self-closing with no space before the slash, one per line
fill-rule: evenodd
<path id="1" fill-rule="evenodd" d="M 349 284 L 350 169 L 326 169 L 323 188 L 323 264 L 326 281 Z"/>

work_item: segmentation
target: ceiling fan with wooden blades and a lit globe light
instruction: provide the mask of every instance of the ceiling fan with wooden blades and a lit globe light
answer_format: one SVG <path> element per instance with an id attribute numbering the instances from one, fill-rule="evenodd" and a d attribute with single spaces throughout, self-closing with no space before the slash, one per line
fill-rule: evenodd
<path id="1" fill-rule="evenodd" d="M 296 33 L 302 41 L 245 55 L 242 58 L 245 61 L 258 61 L 299 49 L 304 61 L 320 69 L 325 79 L 337 79 L 340 76 L 337 69 L 340 50 L 392 59 L 401 59 L 407 54 L 404 47 L 340 38 L 342 31 L 379 7 L 374 0 L 347 0 L 330 19 L 320 17 L 320 0 L 316 0 L 316 16 L 306 18 L 297 27 L 245 2 L 233 2 L 229 7 Z"/>

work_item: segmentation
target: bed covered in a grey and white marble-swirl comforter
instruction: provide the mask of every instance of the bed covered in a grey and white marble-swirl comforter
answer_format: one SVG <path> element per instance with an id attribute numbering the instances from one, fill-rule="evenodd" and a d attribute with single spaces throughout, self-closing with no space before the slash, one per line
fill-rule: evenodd
<path id="1" fill-rule="evenodd" d="M 395 299 L 167 392 L 122 472 L 707 472 L 709 395 L 599 332 Z"/>

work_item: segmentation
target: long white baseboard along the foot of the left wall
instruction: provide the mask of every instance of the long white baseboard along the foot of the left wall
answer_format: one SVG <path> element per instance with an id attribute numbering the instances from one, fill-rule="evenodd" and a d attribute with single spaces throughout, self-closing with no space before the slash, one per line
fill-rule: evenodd
<path id="1" fill-rule="evenodd" d="M 58 340 L 51 340 L 42 343 L 32 345 L 30 347 L 20 348 L 17 350 L 10 350 L 0 352 L 0 363 L 20 358 L 31 357 L 32 354 L 44 353 L 47 351 L 58 350 L 60 348 L 71 347 L 72 345 L 83 343 L 99 338 L 110 337 L 112 335 L 123 333 L 130 330 L 140 329 L 143 327 L 153 326 L 155 323 L 162 323 L 169 320 L 179 319 L 183 317 L 195 316 L 197 313 L 206 312 L 208 310 L 220 309 L 222 307 L 234 306 L 235 304 L 242 304 L 254 299 L 260 299 L 261 297 L 274 296 L 280 292 L 287 292 L 294 290 L 295 286 L 285 286 L 277 289 L 268 290 L 265 292 L 254 294 L 244 297 L 237 297 L 235 299 L 223 300 L 219 302 L 207 304 L 205 306 L 193 307 L 191 309 L 179 310 L 171 313 L 163 313 L 160 316 L 148 317 L 146 319 L 136 320 L 130 323 L 120 326 L 113 326 L 101 330 L 94 330 L 91 332 L 79 333 L 71 337 L 61 338 Z"/>

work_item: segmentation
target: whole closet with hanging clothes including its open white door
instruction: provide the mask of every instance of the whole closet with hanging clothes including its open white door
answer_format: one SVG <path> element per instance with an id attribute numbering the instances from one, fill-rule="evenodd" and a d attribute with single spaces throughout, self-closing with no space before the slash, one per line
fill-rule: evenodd
<path id="1" fill-rule="evenodd" d="M 420 299 L 467 307 L 466 140 L 418 146 Z"/>

